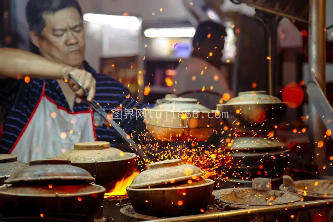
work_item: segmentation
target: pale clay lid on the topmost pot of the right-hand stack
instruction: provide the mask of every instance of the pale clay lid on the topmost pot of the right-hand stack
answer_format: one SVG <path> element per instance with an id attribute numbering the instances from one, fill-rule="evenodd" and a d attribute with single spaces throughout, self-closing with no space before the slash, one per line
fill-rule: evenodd
<path id="1" fill-rule="evenodd" d="M 266 91 L 248 91 L 238 93 L 238 97 L 230 99 L 227 105 L 251 105 L 251 104 L 276 104 L 282 101 L 270 95 Z"/>

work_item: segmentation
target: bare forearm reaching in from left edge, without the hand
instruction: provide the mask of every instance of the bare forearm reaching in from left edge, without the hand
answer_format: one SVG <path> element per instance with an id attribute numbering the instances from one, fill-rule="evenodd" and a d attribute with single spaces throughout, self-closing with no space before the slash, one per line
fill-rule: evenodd
<path id="1" fill-rule="evenodd" d="M 0 48 L 0 78 L 17 78 L 18 75 L 31 78 L 61 79 L 65 70 L 71 70 L 42 56 L 19 50 Z"/>

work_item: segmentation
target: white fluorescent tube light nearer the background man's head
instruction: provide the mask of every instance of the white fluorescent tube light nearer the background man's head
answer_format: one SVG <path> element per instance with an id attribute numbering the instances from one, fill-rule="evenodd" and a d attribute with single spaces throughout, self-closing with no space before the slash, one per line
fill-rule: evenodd
<path id="1" fill-rule="evenodd" d="M 147 38 L 192 38 L 195 28 L 146 29 L 144 33 Z"/>

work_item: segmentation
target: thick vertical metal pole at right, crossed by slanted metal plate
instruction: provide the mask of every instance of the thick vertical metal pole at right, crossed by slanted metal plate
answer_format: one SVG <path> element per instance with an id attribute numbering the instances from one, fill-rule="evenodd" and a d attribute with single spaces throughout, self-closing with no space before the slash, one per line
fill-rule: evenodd
<path id="1" fill-rule="evenodd" d="M 316 77 L 319 86 L 325 93 L 326 68 L 326 0 L 309 0 L 309 79 Z M 323 138 L 325 127 L 321 116 L 317 114 L 312 100 L 309 100 L 309 137 L 314 151 L 314 163 L 319 167 L 319 175 L 324 174 L 325 140 Z M 320 142 L 320 143 L 318 143 Z"/>

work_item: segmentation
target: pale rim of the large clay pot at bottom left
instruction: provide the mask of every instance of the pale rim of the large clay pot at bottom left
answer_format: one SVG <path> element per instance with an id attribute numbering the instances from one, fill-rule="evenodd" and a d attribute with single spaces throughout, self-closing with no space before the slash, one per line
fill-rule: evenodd
<path id="1" fill-rule="evenodd" d="M 67 193 L 67 194 L 34 194 L 34 195 L 28 195 L 24 193 L 7 193 L 4 190 L 9 189 L 12 185 L 2 185 L 0 186 L 0 195 L 7 195 L 7 196 L 20 196 L 20 197 L 79 197 L 79 196 L 87 196 L 87 195 L 92 195 L 92 194 L 99 194 L 99 193 L 105 193 L 106 189 L 100 185 L 97 184 L 87 184 L 91 185 L 92 187 L 98 188 L 95 191 L 91 192 L 86 192 L 86 193 Z M 66 185 L 63 185 L 66 186 Z M 73 185 L 72 185 L 73 186 Z"/>

